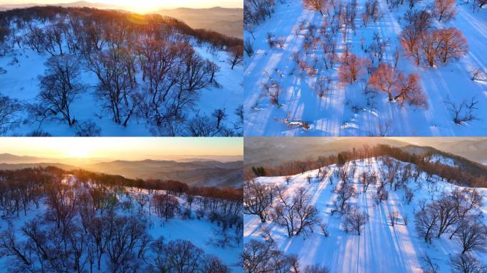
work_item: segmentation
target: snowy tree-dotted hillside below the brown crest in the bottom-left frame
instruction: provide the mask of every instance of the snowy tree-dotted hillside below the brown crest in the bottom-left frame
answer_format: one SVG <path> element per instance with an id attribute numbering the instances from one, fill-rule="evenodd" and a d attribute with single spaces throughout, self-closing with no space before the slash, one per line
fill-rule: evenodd
<path id="1" fill-rule="evenodd" d="M 63 175 L 61 184 L 49 184 L 45 195 L 38 191 L 36 201 L 16 211 L 11 193 L 22 186 L 2 183 L 0 272 L 242 272 L 240 201 Z M 49 254 L 36 256 L 33 246 Z"/>

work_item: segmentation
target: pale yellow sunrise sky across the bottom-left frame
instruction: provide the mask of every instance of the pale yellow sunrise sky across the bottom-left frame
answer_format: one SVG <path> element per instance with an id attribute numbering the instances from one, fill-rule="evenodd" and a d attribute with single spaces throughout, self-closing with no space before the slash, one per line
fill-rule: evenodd
<path id="1" fill-rule="evenodd" d="M 168 156 L 242 156 L 238 137 L 2 137 L 0 154 L 46 158 L 167 159 Z"/>

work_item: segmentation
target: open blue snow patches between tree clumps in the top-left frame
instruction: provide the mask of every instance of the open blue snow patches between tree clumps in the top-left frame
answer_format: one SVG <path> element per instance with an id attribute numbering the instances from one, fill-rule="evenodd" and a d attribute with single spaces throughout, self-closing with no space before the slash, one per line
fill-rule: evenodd
<path id="1" fill-rule="evenodd" d="M 210 85 L 204 90 L 199 90 L 199 96 L 194 109 L 189 111 L 189 118 L 199 114 L 211 117 L 215 109 L 226 109 L 227 117 L 224 123 L 233 128 L 239 117 L 234 110 L 242 105 L 243 97 L 243 65 L 236 65 L 231 69 L 229 53 L 223 50 L 211 52 L 209 45 L 196 45 L 193 48 L 201 57 L 209 59 L 219 66 L 220 71 L 216 73 L 215 80 L 221 87 Z M 67 50 L 65 50 L 67 51 Z M 39 54 L 31 50 L 27 45 L 19 49 L 17 45 L 6 56 L 0 57 L 0 68 L 6 73 L 0 73 L 0 95 L 6 95 L 18 99 L 24 103 L 33 103 L 39 92 L 38 76 L 44 74 L 45 63 L 51 55 L 49 53 Z M 137 75 L 137 82 L 142 85 L 142 73 Z M 101 129 L 102 137 L 143 137 L 151 136 L 150 127 L 144 119 L 132 118 L 127 127 L 115 124 L 112 121 L 112 114 L 103 110 L 103 102 L 97 100 L 95 86 L 98 78 L 90 71 L 81 73 L 81 84 L 85 85 L 85 91 L 78 95 L 71 105 L 70 112 L 78 123 L 92 121 Z M 31 119 L 27 112 L 20 115 L 23 123 L 6 132 L 6 136 L 22 136 L 41 129 L 53 136 L 71 137 L 75 135 L 75 127 L 69 127 L 66 122 L 58 120 L 44 120 L 42 124 Z"/>

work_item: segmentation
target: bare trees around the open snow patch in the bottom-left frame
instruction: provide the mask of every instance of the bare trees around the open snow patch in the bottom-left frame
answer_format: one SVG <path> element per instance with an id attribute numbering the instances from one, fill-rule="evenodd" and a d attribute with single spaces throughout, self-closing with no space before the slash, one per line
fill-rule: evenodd
<path id="1" fill-rule="evenodd" d="M 26 221 L 20 232 L 13 225 L 2 232 L 0 253 L 10 258 L 9 272 L 229 272 L 219 258 L 206 255 L 192 242 L 150 237 L 147 229 L 152 224 L 142 208 L 149 204 L 149 213 L 154 211 L 166 220 L 174 217 L 182 205 L 169 193 L 135 196 L 126 188 L 79 181 L 50 167 L 1 171 L 0 177 L 4 218 L 21 210 L 25 213 L 31 204 L 43 206 L 39 217 Z M 239 215 L 241 203 L 186 196 L 192 198 L 187 205 L 198 203 L 199 217 Z M 140 205 L 138 214 L 132 200 Z M 236 237 L 240 238 L 243 223 L 238 222 L 227 220 L 225 229 L 239 225 Z"/>

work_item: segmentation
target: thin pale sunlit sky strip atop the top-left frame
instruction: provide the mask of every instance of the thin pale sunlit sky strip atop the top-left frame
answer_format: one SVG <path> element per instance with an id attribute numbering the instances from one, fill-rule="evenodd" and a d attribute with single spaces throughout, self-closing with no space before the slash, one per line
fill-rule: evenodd
<path id="1" fill-rule="evenodd" d="M 61 4 L 72 3 L 78 0 L 0 0 L 3 4 Z M 88 0 L 92 3 L 120 6 L 135 12 L 149 12 L 158 9 L 174 9 L 179 7 L 211 8 L 221 6 L 224 8 L 243 8 L 243 0 Z"/>

